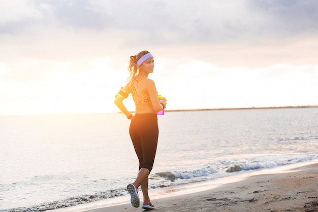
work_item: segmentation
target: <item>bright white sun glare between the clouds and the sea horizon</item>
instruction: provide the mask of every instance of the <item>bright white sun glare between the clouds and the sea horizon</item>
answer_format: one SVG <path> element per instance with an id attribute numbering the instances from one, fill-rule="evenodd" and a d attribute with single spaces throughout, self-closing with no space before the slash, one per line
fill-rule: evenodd
<path id="1" fill-rule="evenodd" d="M 167 98 L 167 110 L 317 104 L 318 67 L 314 65 L 218 67 L 165 58 L 157 58 L 156 63 L 149 78 Z M 33 73 L 37 71 L 43 70 L 33 69 Z M 10 69 L 8 72 L 5 67 L 1 75 L 6 78 L 8 73 Z M 9 92 L 0 93 L 5 102 L 1 115 L 119 112 L 113 100 L 128 76 L 126 67 L 114 69 L 109 57 L 56 63 L 41 78 L 2 83 L 2 92 Z M 130 111 L 135 110 L 131 96 L 124 103 Z"/>

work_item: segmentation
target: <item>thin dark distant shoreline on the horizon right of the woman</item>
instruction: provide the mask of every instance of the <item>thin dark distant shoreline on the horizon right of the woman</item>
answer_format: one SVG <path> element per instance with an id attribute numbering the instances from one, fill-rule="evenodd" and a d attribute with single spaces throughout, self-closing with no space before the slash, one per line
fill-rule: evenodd
<path id="1" fill-rule="evenodd" d="M 210 108 L 210 109 L 180 109 L 165 110 L 165 112 L 184 112 L 184 111 L 224 111 L 224 110 L 253 110 L 253 109 L 289 109 L 289 108 L 318 108 L 318 105 L 304 106 L 281 106 L 281 107 L 252 107 L 252 108 Z"/>

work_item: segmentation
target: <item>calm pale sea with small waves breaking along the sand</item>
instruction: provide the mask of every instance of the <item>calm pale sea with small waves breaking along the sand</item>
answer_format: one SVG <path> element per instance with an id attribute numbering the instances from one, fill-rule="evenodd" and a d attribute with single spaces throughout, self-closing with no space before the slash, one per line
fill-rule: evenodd
<path id="1" fill-rule="evenodd" d="M 0 117 L 0 211 L 128 194 L 129 125 L 121 113 Z M 174 111 L 158 125 L 150 190 L 318 159 L 318 108 Z"/>

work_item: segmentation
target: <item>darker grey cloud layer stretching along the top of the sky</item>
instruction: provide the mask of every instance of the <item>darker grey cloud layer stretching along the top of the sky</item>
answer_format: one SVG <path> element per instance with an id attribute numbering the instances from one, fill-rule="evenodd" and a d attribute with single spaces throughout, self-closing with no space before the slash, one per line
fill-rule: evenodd
<path id="1" fill-rule="evenodd" d="M 128 38 L 135 38 L 139 44 L 214 44 L 242 39 L 286 38 L 308 31 L 317 32 L 318 26 L 318 3 L 314 0 L 36 0 L 27 6 L 29 10 L 25 11 L 28 12 L 22 14 L 37 11 L 40 15 L 33 18 L 38 19 L 38 24 L 124 30 Z M 25 23 L 27 19 L 12 18 L 13 21 L 19 26 L 18 22 Z"/>

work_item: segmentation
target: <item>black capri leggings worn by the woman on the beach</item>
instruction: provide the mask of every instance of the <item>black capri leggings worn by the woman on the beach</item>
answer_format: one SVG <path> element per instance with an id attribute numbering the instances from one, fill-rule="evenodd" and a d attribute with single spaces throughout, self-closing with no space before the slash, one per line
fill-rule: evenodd
<path id="1" fill-rule="evenodd" d="M 156 114 L 136 114 L 133 118 L 129 134 L 139 160 L 139 170 L 152 170 L 158 143 L 158 121 Z"/>

